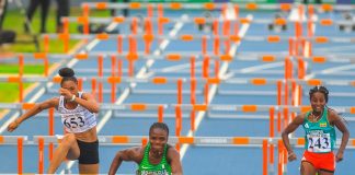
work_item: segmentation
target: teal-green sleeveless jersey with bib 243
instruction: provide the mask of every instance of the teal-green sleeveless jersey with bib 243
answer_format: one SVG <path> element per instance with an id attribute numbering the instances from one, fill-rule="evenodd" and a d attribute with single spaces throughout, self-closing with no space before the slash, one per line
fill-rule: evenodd
<path id="1" fill-rule="evenodd" d="M 325 153 L 334 149 L 336 136 L 335 129 L 328 121 L 328 107 L 324 107 L 323 115 L 317 122 L 309 121 L 311 112 L 306 114 L 302 124 L 306 131 L 305 149 L 309 152 Z"/>

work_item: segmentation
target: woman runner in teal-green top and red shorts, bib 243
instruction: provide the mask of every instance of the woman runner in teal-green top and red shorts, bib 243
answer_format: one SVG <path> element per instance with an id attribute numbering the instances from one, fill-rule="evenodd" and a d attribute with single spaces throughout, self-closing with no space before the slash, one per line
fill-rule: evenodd
<path id="1" fill-rule="evenodd" d="M 288 152 L 288 161 L 297 159 L 289 144 L 288 135 L 302 125 L 305 136 L 305 153 L 301 159 L 301 175 L 333 175 L 335 162 L 343 160 L 348 141 L 348 130 L 343 118 L 327 106 L 329 91 L 324 86 L 314 86 L 309 91 L 311 110 L 298 115 L 283 131 L 282 138 Z M 335 129 L 343 133 L 341 145 L 334 155 Z"/>

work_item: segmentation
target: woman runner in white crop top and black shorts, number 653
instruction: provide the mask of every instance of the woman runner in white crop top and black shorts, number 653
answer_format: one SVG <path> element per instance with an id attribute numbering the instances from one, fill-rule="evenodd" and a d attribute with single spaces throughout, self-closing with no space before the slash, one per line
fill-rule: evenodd
<path id="1" fill-rule="evenodd" d="M 99 141 L 96 133 L 96 113 L 99 104 L 89 93 L 78 91 L 78 80 L 70 68 L 59 70 L 62 77 L 59 97 L 54 97 L 36 104 L 33 108 L 16 118 L 8 126 L 12 132 L 27 118 L 44 109 L 55 107 L 61 115 L 61 121 L 68 131 L 57 147 L 49 163 L 48 174 L 56 173 L 60 163 L 68 160 L 79 160 L 80 174 L 99 174 Z"/>

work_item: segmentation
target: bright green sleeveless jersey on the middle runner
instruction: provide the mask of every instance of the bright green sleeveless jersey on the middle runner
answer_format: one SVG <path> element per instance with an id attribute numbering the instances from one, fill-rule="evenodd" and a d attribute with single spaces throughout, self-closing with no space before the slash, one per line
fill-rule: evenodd
<path id="1" fill-rule="evenodd" d="M 156 165 L 151 164 L 149 162 L 150 148 L 151 148 L 151 145 L 150 145 L 150 143 L 148 143 L 145 149 L 145 155 L 139 164 L 137 174 L 139 174 L 139 175 L 171 175 L 171 166 L 167 161 L 168 144 L 165 144 L 165 147 L 164 147 L 164 152 L 163 152 L 160 163 L 156 164 Z"/>

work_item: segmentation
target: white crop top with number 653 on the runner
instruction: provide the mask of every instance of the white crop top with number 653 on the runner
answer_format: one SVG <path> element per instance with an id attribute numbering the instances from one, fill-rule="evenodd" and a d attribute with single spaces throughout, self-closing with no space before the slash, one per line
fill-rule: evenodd
<path id="1" fill-rule="evenodd" d="M 83 92 L 79 92 L 80 98 Z M 87 108 L 80 106 L 80 104 L 75 109 L 67 109 L 65 107 L 65 96 L 62 95 L 59 97 L 58 113 L 68 132 L 84 132 L 96 126 L 96 114 L 89 112 Z"/>

